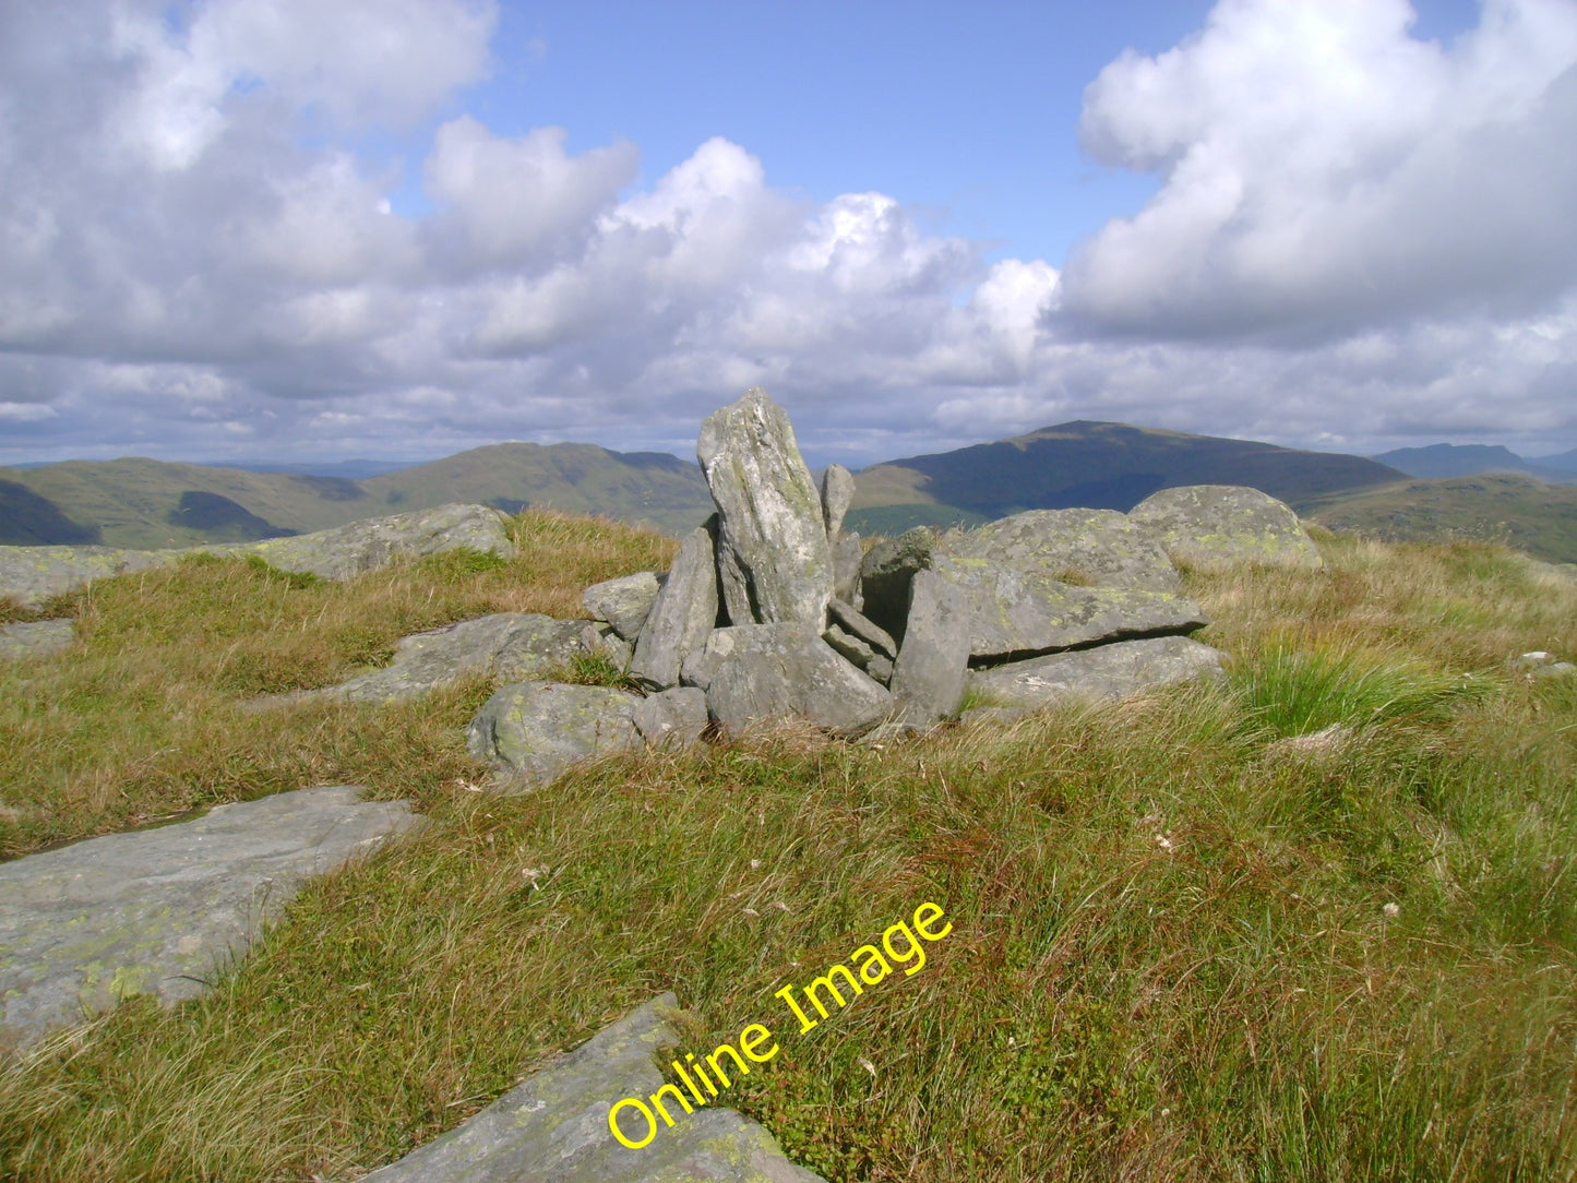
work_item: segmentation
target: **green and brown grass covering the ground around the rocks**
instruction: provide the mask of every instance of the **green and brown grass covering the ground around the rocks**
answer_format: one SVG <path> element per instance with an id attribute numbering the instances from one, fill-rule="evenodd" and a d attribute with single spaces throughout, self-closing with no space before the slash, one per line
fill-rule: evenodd
<path id="1" fill-rule="evenodd" d="M 833 1180 L 1577 1175 L 1577 686 L 1509 666 L 1577 653 L 1577 585 L 1328 541 L 1325 573 L 1186 573 L 1222 685 L 513 798 L 460 743 L 486 685 L 235 713 L 412 628 L 572 614 L 672 546 L 516 530 L 506 568 L 110 580 L 74 606 L 85 651 L 0 667 L 13 853 L 323 779 L 435 822 L 311 883 L 210 995 L 0 1068 L 0 1175 L 353 1178 L 664 989 L 689 1051 L 771 1027 L 730 1101 Z M 923 901 L 954 926 L 924 968 L 796 1035 L 774 992 Z"/>

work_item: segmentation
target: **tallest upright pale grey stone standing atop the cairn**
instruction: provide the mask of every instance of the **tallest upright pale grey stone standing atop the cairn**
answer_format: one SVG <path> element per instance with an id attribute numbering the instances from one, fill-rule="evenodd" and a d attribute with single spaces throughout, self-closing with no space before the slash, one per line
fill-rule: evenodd
<path id="1" fill-rule="evenodd" d="M 793 427 L 751 390 L 700 424 L 695 456 L 718 503 L 718 579 L 729 621 L 822 628 L 833 554 L 822 498 Z"/>

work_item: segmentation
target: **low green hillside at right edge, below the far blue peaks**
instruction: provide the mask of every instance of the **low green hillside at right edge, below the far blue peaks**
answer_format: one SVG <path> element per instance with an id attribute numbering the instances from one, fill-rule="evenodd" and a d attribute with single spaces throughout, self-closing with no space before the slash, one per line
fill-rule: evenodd
<path id="1" fill-rule="evenodd" d="M 1577 487 L 1531 476 L 1399 481 L 1307 498 L 1295 508 L 1337 533 L 1392 543 L 1497 541 L 1534 558 L 1577 563 Z"/>

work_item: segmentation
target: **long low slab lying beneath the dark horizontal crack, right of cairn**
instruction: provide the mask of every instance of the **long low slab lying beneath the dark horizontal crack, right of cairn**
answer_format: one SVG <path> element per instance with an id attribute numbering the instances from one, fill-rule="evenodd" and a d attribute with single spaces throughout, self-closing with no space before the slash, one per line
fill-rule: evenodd
<path id="1" fill-rule="evenodd" d="M 1191 637 L 1146 637 L 973 670 L 970 689 L 994 705 L 1049 707 L 1219 675 L 1219 650 Z"/>

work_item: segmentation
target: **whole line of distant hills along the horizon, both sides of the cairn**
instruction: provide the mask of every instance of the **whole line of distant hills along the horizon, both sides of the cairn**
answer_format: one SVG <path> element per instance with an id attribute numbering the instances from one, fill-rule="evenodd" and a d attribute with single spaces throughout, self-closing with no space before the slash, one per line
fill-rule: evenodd
<path id="1" fill-rule="evenodd" d="M 588 443 L 498 443 L 393 472 L 377 472 L 377 461 L 300 467 L 309 465 L 121 459 L 0 468 L 0 544 L 254 541 L 446 502 L 511 513 L 550 506 L 669 533 L 711 513 L 692 461 Z M 1463 467 L 1471 472 L 1460 473 Z M 1478 476 L 1484 470 L 1519 475 Z M 1408 480 L 1415 473 L 1433 480 Z M 1172 486 L 1247 484 L 1331 528 L 1389 538 L 1493 536 L 1544 558 L 1577 562 L 1577 487 L 1542 484 L 1530 473 L 1577 484 L 1577 453 L 1528 465 L 1504 448 L 1435 445 L 1366 459 L 1077 421 L 864 468 L 847 521 L 861 533 L 896 533 L 1020 509 L 1126 511 Z"/>

